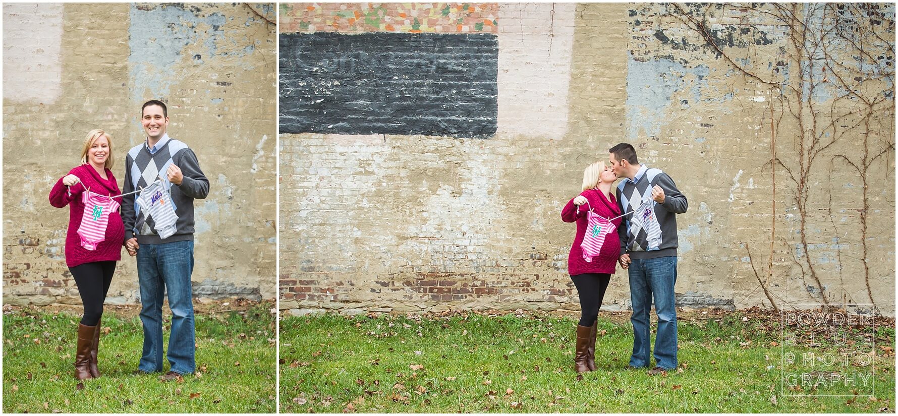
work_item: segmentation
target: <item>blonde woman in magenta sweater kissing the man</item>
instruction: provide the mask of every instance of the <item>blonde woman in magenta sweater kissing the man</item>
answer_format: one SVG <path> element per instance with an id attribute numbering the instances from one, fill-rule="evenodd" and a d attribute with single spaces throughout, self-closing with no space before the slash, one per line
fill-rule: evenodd
<path id="1" fill-rule="evenodd" d="M 599 308 L 605 289 L 614 273 L 615 263 L 621 251 L 617 232 L 605 237 L 598 253 L 585 261 L 580 244 L 586 234 L 588 217 L 592 208 L 595 214 L 606 219 L 621 215 L 621 208 L 612 193 L 612 184 L 617 176 L 602 162 L 586 166 L 583 171 L 583 192 L 568 201 L 561 210 L 561 220 L 577 222 L 577 237 L 568 253 L 568 274 L 577 287 L 580 297 L 580 322 L 577 324 L 577 350 L 574 353 L 574 369 L 577 373 L 595 370 L 595 328 L 598 323 Z M 588 203 L 587 203 L 588 202 Z M 621 218 L 612 220 L 615 227 L 621 226 Z"/>

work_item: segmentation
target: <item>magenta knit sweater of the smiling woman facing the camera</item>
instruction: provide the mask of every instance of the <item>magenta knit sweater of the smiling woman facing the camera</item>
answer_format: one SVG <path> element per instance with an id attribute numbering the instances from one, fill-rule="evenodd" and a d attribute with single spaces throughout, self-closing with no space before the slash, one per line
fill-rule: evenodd
<path id="1" fill-rule="evenodd" d="M 81 226 L 81 218 L 84 216 L 84 203 L 81 202 L 81 193 L 85 187 L 91 192 L 101 195 L 121 195 L 119 184 L 115 176 L 107 169 L 104 180 L 100 173 L 89 164 L 72 169 L 72 173 L 81 180 L 71 186 L 72 196 L 66 192 L 66 185 L 62 184 L 62 178 L 53 185 L 50 190 L 50 205 L 56 208 L 69 206 L 68 231 L 66 233 L 66 266 L 75 267 L 79 264 L 92 261 L 119 261 L 121 260 L 121 248 L 125 244 L 125 226 L 122 225 L 119 212 L 110 213 L 110 221 L 106 226 L 106 239 L 97 244 L 96 250 L 87 250 L 81 246 L 81 237 L 78 236 L 78 227 Z"/>

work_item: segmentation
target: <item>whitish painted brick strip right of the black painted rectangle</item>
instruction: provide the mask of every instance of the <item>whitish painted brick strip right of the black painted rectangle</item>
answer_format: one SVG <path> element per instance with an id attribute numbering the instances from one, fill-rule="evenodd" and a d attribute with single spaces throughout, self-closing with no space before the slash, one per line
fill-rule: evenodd
<path id="1" fill-rule="evenodd" d="M 500 4 L 497 135 L 560 138 L 577 4 Z"/>

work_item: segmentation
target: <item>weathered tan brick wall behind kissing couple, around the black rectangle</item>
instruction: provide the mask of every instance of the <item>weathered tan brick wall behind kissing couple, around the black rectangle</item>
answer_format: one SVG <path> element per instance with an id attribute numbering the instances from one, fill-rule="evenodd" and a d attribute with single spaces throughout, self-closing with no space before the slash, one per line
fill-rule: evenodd
<path id="1" fill-rule="evenodd" d="M 732 6 L 566 7 L 500 4 L 493 137 L 280 136 L 281 308 L 577 310 L 559 212 L 585 165 L 627 141 L 690 200 L 679 305 L 894 315 L 893 6 L 840 23 L 872 57 L 795 29 L 825 31 L 836 5 L 787 10 L 804 24 Z M 521 102 L 534 106 L 507 112 Z M 625 271 L 604 304 L 629 307 Z"/>

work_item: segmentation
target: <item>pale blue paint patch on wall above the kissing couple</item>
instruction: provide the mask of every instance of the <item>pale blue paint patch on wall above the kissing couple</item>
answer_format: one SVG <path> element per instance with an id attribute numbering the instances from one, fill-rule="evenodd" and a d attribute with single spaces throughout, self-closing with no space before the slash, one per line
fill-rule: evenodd
<path id="1" fill-rule="evenodd" d="M 689 88 L 692 99 L 700 100 L 700 87 L 708 84 L 709 67 L 687 68 L 671 59 L 658 58 L 639 62 L 629 54 L 627 59 L 627 124 L 629 139 L 657 136 L 667 123 L 667 107 L 674 93 Z M 687 75 L 695 81 L 687 85 Z M 691 81 L 691 80 L 690 80 Z M 684 104 L 685 105 L 685 104 Z"/>

